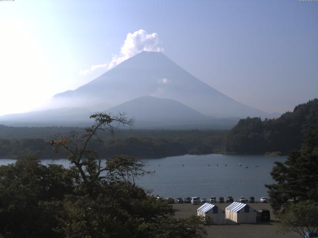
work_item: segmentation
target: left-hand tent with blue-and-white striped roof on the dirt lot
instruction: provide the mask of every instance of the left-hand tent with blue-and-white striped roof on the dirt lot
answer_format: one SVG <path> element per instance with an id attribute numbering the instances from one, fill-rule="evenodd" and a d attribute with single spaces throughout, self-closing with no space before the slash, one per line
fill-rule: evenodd
<path id="1" fill-rule="evenodd" d="M 225 212 L 211 203 L 204 203 L 198 208 L 198 216 L 210 217 L 214 224 L 225 224 Z"/>

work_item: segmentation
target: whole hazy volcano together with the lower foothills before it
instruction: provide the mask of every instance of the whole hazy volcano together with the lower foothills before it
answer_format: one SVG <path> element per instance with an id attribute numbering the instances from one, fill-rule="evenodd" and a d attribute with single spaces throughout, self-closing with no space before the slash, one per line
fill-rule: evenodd
<path id="1" fill-rule="evenodd" d="M 142 52 L 54 101 L 65 108 L 5 115 L 0 123 L 88 123 L 96 111 L 125 112 L 138 127 L 233 126 L 239 118 L 278 116 L 233 100 L 157 52 Z"/>

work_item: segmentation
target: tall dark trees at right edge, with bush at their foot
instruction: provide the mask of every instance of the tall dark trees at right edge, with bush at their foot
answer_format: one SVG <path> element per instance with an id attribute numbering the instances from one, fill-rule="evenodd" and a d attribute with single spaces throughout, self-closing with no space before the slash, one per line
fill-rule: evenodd
<path id="1" fill-rule="evenodd" d="M 314 104 L 315 103 L 315 104 Z M 297 115 L 307 114 L 302 124 L 303 143 L 300 150 L 291 151 L 284 163 L 276 162 L 271 172 L 275 184 L 269 188 L 271 206 L 281 221 L 283 233 L 294 231 L 303 236 L 318 229 L 318 123 L 317 100 L 311 107 L 295 108 Z"/>

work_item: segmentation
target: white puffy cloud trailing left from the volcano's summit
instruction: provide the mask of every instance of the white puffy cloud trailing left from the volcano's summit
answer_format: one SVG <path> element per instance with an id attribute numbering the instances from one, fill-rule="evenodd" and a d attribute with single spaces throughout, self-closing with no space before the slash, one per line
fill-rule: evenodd
<path id="1" fill-rule="evenodd" d="M 111 69 L 117 64 L 128 60 L 142 51 L 162 52 L 158 34 L 148 34 L 147 31 L 140 29 L 134 33 L 128 33 L 124 44 L 121 47 L 118 55 L 113 55 L 109 63 L 97 64 L 90 66 L 90 69 L 79 70 L 79 75 L 85 75 L 94 71 L 97 68 Z"/>

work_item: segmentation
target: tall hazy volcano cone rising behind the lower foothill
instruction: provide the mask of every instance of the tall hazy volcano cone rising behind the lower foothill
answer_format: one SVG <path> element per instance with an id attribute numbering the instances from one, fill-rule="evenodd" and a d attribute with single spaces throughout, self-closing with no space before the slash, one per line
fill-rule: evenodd
<path id="1" fill-rule="evenodd" d="M 118 105 L 143 96 L 173 99 L 212 117 L 272 117 L 215 90 L 156 52 L 142 52 L 78 89 L 54 98 L 72 102 L 88 98 L 94 103 Z"/>

